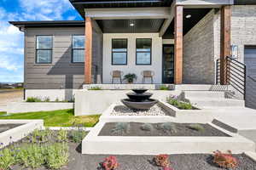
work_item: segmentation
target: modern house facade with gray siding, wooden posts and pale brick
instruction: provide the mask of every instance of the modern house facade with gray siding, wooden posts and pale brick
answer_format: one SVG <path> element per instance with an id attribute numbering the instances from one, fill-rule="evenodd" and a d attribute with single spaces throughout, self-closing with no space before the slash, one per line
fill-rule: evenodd
<path id="1" fill-rule="evenodd" d="M 70 2 L 84 21 L 10 22 L 25 32 L 27 96 L 62 89 L 67 99 L 83 84 L 119 84 L 113 71 L 136 74 L 137 84 L 215 84 L 217 59 L 227 84 L 231 54 L 256 77 L 251 0 Z M 143 71 L 153 82 L 143 81 Z"/>

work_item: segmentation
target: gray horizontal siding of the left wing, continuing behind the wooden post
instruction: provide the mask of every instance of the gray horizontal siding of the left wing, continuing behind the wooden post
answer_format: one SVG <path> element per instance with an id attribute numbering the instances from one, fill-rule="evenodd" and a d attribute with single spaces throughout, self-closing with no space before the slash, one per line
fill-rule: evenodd
<path id="1" fill-rule="evenodd" d="M 53 36 L 52 64 L 35 64 L 36 36 Z M 25 88 L 58 89 L 81 88 L 84 82 L 84 64 L 72 60 L 72 35 L 84 35 L 84 27 L 27 28 L 25 39 Z M 94 31 L 93 65 L 102 65 L 101 34 Z M 99 60 L 98 60 L 99 59 Z M 102 66 L 96 66 L 101 68 Z M 93 74 L 102 75 L 101 69 Z M 96 77 L 93 77 L 96 82 Z"/>

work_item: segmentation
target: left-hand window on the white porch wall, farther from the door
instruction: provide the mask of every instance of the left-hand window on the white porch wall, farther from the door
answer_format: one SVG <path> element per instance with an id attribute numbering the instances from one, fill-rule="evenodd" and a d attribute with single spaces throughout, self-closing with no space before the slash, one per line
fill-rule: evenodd
<path id="1" fill-rule="evenodd" d="M 127 39 L 112 40 L 112 65 L 127 65 Z"/>

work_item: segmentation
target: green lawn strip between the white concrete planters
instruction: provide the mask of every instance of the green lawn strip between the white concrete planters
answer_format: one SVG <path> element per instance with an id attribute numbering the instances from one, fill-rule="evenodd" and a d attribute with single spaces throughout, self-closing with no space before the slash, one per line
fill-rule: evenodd
<path id="1" fill-rule="evenodd" d="M 45 127 L 72 127 L 81 124 L 84 127 L 94 127 L 100 115 L 74 116 L 73 109 L 59 111 L 38 111 L 30 113 L 15 113 L 11 116 L 1 116 L 0 119 L 44 119 Z"/>

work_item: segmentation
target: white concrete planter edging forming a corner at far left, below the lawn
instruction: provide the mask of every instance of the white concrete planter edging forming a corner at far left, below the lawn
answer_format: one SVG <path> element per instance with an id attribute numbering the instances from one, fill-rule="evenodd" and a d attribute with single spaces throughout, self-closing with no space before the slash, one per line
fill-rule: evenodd
<path id="1" fill-rule="evenodd" d="M 43 120 L 0 120 L 0 124 L 23 124 L 19 127 L 11 128 L 3 133 L 0 133 L 0 148 L 7 146 L 11 142 L 16 142 L 32 133 L 35 129 L 44 127 Z"/>

